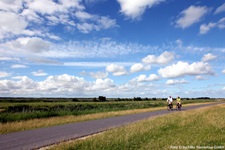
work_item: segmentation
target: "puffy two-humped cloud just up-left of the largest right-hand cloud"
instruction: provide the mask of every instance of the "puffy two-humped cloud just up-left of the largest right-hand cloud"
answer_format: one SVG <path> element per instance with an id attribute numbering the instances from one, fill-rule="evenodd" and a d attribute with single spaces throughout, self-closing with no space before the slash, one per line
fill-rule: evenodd
<path id="1" fill-rule="evenodd" d="M 142 59 L 143 63 L 146 64 L 168 64 L 174 59 L 174 54 L 172 52 L 163 52 L 160 56 L 148 55 Z"/>

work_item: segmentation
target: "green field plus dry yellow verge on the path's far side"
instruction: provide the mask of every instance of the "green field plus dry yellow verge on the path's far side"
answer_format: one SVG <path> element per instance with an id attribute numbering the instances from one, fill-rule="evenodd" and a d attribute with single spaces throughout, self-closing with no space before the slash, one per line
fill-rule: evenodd
<path id="1" fill-rule="evenodd" d="M 184 104 L 196 102 L 207 101 L 183 101 Z M 4 102 L 1 103 L 0 134 L 157 109 L 165 109 L 165 102 Z"/>

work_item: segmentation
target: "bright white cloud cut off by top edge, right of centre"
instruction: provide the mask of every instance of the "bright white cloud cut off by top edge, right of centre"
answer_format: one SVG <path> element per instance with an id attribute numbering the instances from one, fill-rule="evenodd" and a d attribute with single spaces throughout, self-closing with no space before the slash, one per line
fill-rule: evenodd
<path id="1" fill-rule="evenodd" d="M 117 0 L 120 4 L 120 12 L 129 18 L 139 18 L 147 8 L 151 8 L 164 0 Z"/>

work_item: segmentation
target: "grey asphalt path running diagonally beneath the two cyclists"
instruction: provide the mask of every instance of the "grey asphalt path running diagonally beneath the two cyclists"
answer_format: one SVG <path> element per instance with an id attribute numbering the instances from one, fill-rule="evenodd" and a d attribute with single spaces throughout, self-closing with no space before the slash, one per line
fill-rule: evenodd
<path id="1" fill-rule="evenodd" d="M 217 105 L 221 103 L 208 103 L 187 106 L 184 107 L 182 111 Z M 177 111 L 158 110 L 153 112 L 117 116 L 106 119 L 70 123 L 53 127 L 2 134 L 0 135 L 0 150 L 38 149 L 62 141 L 82 138 L 85 136 L 103 132 L 105 130 L 119 127 L 122 125 L 127 125 L 129 123 L 133 123 L 139 120 L 175 112 Z"/>

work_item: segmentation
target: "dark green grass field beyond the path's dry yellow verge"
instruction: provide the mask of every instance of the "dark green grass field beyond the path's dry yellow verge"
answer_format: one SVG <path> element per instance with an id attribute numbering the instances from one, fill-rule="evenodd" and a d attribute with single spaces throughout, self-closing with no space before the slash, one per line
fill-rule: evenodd
<path id="1" fill-rule="evenodd" d="M 7 123 L 56 116 L 79 116 L 100 112 L 162 107 L 165 102 L 2 102 L 0 105 L 0 122 Z"/>

